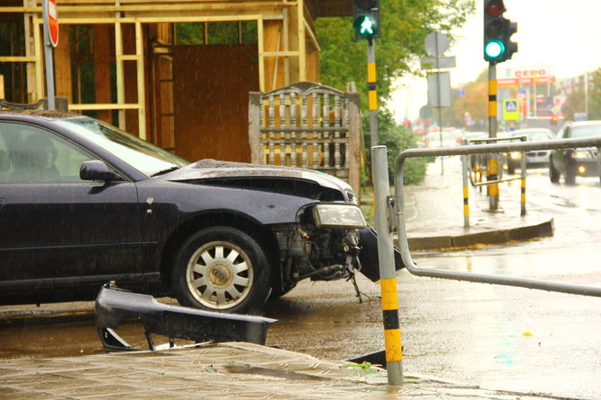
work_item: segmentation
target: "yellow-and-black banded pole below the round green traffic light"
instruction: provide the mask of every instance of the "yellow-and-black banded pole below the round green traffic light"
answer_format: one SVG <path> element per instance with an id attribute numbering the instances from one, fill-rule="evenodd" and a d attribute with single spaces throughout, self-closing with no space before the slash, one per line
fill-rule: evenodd
<path id="1" fill-rule="evenodd" d="M 497 65 L 488 64 L 488 136 L 497 137 Z M 489 154 L 486 168 L 486 180 L 497 180 L 499 165 L 497 156 Z M 499 208 L 499 185 L 493 183 L 487 186 L 491 211 Z"/>

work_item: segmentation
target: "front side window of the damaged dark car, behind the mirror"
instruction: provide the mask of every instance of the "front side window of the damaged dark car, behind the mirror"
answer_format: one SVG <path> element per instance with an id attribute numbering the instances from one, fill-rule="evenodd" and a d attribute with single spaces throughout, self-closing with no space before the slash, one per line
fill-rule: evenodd
<path id="1" fill-rule="evenodd" d="M 0 123 L 0 143 L 0 183 L 81 182 L 82 162 L 95 159 L 36 126 Z"/>

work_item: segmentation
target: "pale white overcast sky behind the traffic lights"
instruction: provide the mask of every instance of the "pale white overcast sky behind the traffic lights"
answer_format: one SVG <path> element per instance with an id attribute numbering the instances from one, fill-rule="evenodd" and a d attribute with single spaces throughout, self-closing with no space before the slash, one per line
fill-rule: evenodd
<path id="1" fill-rule="evenodd" d="M 601 66 L 601 1 L 505 0 L 504 3 L 507 8 L 504 16 L 518 22 L 518 32 L 511 37 L 518 43 L 518 52 L 497 65 L 498 70 L 551 66 L 556 77 L 562 79 Z M 457 67 L 450 70 L 453 86 L 475 80 L 488 66 L 483 60 L 483 0 L 476 0 L 475 14 L 456 33 L 457 43 L 445 54 L 457 57 Z M 425 79 L 405 78 L 393 95 L 390 109 L 394 109 L 397 120 L 402 120 L 405 113 L 414 119 L 426 102 Z"/>

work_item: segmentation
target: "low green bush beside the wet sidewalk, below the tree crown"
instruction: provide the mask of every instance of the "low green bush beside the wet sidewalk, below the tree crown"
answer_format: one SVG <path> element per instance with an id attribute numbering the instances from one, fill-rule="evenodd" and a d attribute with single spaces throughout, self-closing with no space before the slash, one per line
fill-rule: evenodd
<path id="1" fill-rule="evenodd" d="M 405 129 L 405 126 L 398 126 L 395 123 L 392 114 L 388 110 L 382 110 L 378 114 L 379 125 L 379 144 L 385 145 L 388 150 L 388 180 L 394 184 L 396 156 L 407 149 L 417 147 L 415 135 Z M 363 132 L 365 133 L 365 152 L 370 159 L 370 120 L 363 118 Z M 370 164 L 370 162 L 368 162 Z M 367 167 L 371 170 L 371 167 Z M 421 158 L 410 158 L 405 161 L 405 171 L 403 180 L 405 185 L 420 183 L 426 175 L 426 160 Z M 369 177 L 366 177 L 369 178 Z"/>

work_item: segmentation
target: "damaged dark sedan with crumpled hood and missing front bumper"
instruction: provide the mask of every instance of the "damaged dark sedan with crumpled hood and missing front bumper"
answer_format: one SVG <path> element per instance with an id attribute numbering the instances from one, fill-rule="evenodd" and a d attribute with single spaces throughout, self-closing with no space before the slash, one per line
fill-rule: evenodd
<path id="1" fill-rule="evenodd" d="M 375 233 L 344 181 L 191 163 L 55 111 L 0 111 L 0 225 L 2 303 L 92 300 L 116 281 L 247 313 L 303 279 L 379 279 Z"/>

